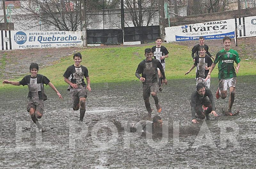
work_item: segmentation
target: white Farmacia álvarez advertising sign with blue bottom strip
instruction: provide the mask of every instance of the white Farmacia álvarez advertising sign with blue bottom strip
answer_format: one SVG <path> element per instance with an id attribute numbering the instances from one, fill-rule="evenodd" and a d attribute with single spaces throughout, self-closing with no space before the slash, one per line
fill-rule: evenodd
<path id="1" fill-rule="evenodd" d="M 211 21 L 183 26 L 165 28 L 166 41 L 198 40 L 203 36 L 208 39 L 223 39 L 225 36 L 235 37 L 235 19 Z"/>

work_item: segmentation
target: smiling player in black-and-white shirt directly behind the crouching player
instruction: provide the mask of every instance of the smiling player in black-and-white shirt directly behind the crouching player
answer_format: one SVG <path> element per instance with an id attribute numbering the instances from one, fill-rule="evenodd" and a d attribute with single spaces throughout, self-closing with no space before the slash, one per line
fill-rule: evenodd
<path id="1" fill-rule="evenodd" d="M 195 67 L 197 69 L 196 71 L 196 85 L 198 83 L 204 83 L 204 85 L 210 89 L 210 79 L 207 79 L 207 81 L 204 81 L 207 77 L 209 70 L 212 65 L 212 59 L 210 56 L 206 55 L 206 49 L 205 46 L 200 46 L 199 48 L 199 55 L 195 57 L 195 63 L 192 65 L 192 67 L 185 73 L 187 75 L 191 70 L 193 70 Z"/>

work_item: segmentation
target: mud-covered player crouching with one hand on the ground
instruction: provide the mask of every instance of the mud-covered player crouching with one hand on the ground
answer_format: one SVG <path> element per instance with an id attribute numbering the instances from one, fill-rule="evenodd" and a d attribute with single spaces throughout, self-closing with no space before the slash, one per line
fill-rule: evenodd
<path id="1" fill-rule="evenodd" d="M 196 89 L 191 94 L 190 105 L 193 123 L 198 123 L 196 118 L 204 119 L 206 117 L 206 120 L 209 120 L 210 113 L 214 116 L 218 116 L 215 112 L 215 103 L 212 92 L 205 87 L 204 83 L 198 83 L 196 85 Z M 203 105 L 207 107 L 206 110 L 203 110 Z"/>

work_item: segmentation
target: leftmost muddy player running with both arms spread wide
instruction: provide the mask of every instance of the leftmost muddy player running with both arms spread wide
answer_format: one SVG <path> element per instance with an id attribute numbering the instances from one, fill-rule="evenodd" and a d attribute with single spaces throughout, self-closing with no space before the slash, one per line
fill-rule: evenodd
<path id="1" fill-rule="evenodd" d="M 31 75 L 23 77 L 21 81 L 11 82 L 4 80 L 3 84 L 11 84 L 16 86 L 28 85 L 29 92 L 27 111 L 30 114 L 32 121 L 36 124 L 38 129 L 37 131 L 42 132 L 42 125 L 38 122 L 38 119 L 43 116 L 44 100 L 47 99 L 44 93 L 44 84 L 49 85 L 57 93 L 60 99 L 62 99 L 62 96 L 47 77 L 37 74 L 39 70 L 37 63 L 31 63 L 29 70 Z"/>

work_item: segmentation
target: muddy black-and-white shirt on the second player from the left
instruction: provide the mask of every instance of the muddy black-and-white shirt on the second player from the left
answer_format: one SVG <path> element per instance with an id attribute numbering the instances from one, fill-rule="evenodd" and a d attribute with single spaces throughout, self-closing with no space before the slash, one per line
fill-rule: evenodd
<path id="1" fill-rule="evenodd" d="M 88 69 L 82 65 L 80 67 L 75 67 L 74 65 L 69 66 L 63 76 L 66 77 L 71 83 L 78 85 L 78 88 L 86 87 L 84 77 L 89 77 Z M 71 86 L 69 85 L 68 90 L 70 88 Z"/>

